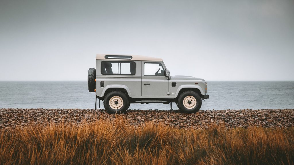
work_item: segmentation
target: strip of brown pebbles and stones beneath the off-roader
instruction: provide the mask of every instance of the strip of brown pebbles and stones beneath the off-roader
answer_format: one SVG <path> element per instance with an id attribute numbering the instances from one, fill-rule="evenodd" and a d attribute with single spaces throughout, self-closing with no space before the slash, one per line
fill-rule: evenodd
<path id="1" fill-rule="evenodd" d="M 105 110 L 93 109 L 0 109 L 0 130 L 23 128 L 32 123 L 46 126 L 64 122 L 82 126 L 98 120 L 113 121 L 117 117 L 125 118 L 126 125 L 131 127 L 139 127 L 146 122 L 162 122 L 183 129 L 207 129 L 213 125 L 223 125 L 226 128 L 294 126 L 293 109 L 200 110 L 195 114 L 184 114 L 179 110 L 128 110 L 123 115 L 111 115 Z"/>

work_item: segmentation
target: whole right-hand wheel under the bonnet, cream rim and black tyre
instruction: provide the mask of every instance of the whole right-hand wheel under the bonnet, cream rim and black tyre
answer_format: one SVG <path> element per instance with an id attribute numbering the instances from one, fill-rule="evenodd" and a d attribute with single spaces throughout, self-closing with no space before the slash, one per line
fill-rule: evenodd
<path id="1" fill-rule="evenodd" d="M 202 105 L 201 97 L 194 91 L 183 92 L 178 98 L 177 106 L 183 113 L 196 113 Z"/>

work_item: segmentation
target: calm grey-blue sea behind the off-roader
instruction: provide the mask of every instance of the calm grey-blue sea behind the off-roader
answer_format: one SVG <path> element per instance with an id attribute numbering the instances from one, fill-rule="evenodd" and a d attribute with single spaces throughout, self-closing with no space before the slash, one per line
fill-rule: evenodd
<path id="1" fill-rule="evenodd" d="M 207 82 L 210 98 L 201 110 L 294 109 L 294 81 Z M 87 81 L 0 81 L 0 108 L 94 109 L 95 93 L 88 92 Z M 170 110 L 171 105 L 131 104 L 129 109 Z M 175 103 L 172 109 L 178 109 Z"/>

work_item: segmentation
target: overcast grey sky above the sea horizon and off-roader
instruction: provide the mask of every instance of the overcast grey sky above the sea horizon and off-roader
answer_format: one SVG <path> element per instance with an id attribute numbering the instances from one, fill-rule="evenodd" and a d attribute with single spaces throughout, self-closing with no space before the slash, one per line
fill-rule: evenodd
<path id="1" fill-rule="evenodd" d="M 0 80 L 86 80 L 96 53 L 208 81 L 294 80 L 294 1 L 0 0 Z"/>

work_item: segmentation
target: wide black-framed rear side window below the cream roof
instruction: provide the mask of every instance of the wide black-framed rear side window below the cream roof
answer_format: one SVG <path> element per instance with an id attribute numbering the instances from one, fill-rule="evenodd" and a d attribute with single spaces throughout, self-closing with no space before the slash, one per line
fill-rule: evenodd
<path id="1" fill-rule="evenodd" d="M 135 75 L 136 63 L 133 61 L 102 61 L 103 75 Z"/>

